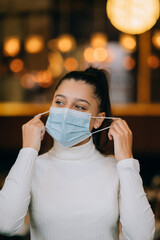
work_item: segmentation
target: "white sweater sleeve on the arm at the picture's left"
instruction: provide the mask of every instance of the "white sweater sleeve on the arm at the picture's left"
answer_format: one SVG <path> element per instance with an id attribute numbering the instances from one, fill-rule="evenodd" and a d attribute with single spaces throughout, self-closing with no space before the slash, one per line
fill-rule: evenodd
<path id="1" fill-rule="evenodd" d="M 21 149 L 0 191 L 1 234 L 14 235 L 23 225 L 37 154 L 33 148 Z"/>

